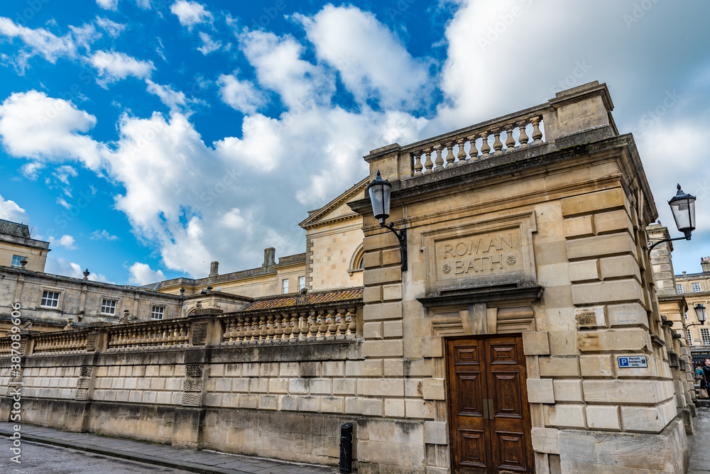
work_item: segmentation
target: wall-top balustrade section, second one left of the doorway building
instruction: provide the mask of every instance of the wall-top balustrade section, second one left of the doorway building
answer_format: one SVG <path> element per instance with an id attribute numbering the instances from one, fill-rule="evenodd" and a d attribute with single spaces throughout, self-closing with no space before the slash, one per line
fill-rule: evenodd
<path id="1" fill-rule="evenodd" d="M 151 323 L 131 324 L 111 328 L 109 351 L 138 348 L 172 348 L 187 346 L 190 341 L 190 321 L 168 319 Z"/>

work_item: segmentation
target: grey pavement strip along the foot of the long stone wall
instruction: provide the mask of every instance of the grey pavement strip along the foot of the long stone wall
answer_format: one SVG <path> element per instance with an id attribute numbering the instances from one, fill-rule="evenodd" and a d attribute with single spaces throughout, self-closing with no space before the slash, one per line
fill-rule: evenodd
<path id="1" fill-rule="evenodd" d="M 164 444 L 113 438 L 92 433 L 73 433 L 25 423 L 21 424 L 20 432 L 23 441 L 61 446 L 62 448 L 71 448 L 192 473 L 333 474 L 339 472 L 337 468 L 322 465 L 288 463 L 273 459 L 219 453 L 217 451 L 178 449 Z M 13 423 L 0 422 L 0 436 L 9 437 L 12 434 Z"/>

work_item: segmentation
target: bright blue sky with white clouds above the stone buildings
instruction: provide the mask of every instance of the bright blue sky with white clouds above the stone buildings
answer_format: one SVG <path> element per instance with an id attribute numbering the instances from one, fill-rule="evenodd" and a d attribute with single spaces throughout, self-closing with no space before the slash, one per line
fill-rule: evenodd
<path id="1" fill-rule="evenodd" d="M 119 284 L 305 250 L 362 156 L 606 82 L 660 216 L 676 182 L 710 255 L 702 1 L 4 1 L 0 218 L 47 271 Z M 672 229 L 672 234 L 677 231 Z"/>

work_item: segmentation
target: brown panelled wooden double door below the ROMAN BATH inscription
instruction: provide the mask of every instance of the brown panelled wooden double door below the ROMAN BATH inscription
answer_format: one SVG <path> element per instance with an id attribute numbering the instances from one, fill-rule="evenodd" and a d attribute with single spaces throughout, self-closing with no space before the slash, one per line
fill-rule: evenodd
<path id="1" fill-rule="evenodd" d="M 521 336 L 447 339 L 454 473 L 534 473 Z"/>

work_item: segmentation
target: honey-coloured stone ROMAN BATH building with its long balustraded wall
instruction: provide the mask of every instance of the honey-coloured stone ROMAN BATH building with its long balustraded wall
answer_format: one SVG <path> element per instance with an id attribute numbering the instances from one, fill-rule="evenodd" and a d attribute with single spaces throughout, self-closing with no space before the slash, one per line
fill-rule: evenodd
<path id="1" fill-rule="evenodd" d="M 19 375 L 0 360 L 0 394 L 23 382 L 32 423 L 331 465 L 349 421 L 360 473 L 683 473 L 682 337 L 612 109 L 594 82 L 373 150 L 367 179 L 302 222 L 305 257 L 232 277 L 255 289 L 244 307 L 0 338 L 24 354 Z M 406 270 L 364 193 L 377 172 Z M 212 273 L 195 298 L 224 293 Z M 290 294 L 292 277 L 312 291 Z"/>

